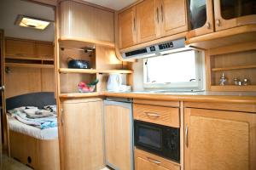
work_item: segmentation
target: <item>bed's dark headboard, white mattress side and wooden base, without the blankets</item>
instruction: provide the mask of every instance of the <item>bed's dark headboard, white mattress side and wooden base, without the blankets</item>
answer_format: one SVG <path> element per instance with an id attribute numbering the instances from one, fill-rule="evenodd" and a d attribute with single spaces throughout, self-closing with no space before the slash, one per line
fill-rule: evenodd
<path id="1" fill-rule="evenodd" d="M 20 106 L 55 105 L 55 95 L 50 92 L 22 94 L 6 99 L 6 110 Z M 9 153 L 16 160 L 36 170 L 58 170 L 59 144 L 57 127 L 40 129 L 7 116 Z"/>

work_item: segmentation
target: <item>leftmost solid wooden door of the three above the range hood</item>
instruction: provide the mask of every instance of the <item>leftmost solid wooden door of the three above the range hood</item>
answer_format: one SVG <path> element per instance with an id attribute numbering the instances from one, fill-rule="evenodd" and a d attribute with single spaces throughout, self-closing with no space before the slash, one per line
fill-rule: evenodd
<path id="1" fill-rule="evenodd" d="M 126 9 L 119 14 L 118 18 L 119 48 L 127 48 L 136 44 L 136 7 Z"/>

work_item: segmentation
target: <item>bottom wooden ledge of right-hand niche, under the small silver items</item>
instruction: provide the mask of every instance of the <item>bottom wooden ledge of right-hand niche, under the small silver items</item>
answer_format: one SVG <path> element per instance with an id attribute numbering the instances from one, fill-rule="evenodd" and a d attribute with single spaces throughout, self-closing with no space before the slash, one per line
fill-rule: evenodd
<path id="1" fill-rule="evenodd" d="M 226 92 L 235 92 L 235 91 L 256 91 L 256 85 L 247 85 L 247 86 L 236 86 L 236 85 L 225 85 L 225 86 L 219 86 L 219 85 L 212 85 L 211 86 L 212 91 L 226 91 Z"/>

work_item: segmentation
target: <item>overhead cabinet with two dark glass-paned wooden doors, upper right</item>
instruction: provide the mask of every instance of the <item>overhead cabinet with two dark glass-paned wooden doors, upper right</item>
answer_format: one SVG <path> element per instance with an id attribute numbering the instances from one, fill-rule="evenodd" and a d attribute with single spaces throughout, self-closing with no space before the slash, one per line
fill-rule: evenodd
<path id="1" fill-rule="evenodd" d="M 254 0 L 188 0 L 187 37 L 256 24 L 255 5 Z"/>

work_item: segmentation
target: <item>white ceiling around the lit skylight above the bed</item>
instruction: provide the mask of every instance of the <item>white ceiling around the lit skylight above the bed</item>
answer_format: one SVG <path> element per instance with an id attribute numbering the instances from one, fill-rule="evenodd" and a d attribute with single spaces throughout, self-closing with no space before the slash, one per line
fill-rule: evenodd
<path id="1" fill-rule="evenodd" d="M 21 0 L 0 0 L 0 29 L 4 30 L 6 37 L 54 41 L 55 29 L 53 23 L 44 31 L 15 26 L 15 20 L 18 14 L 44 20 L 55 20 L 55 11 L 53 8 Z"/>

